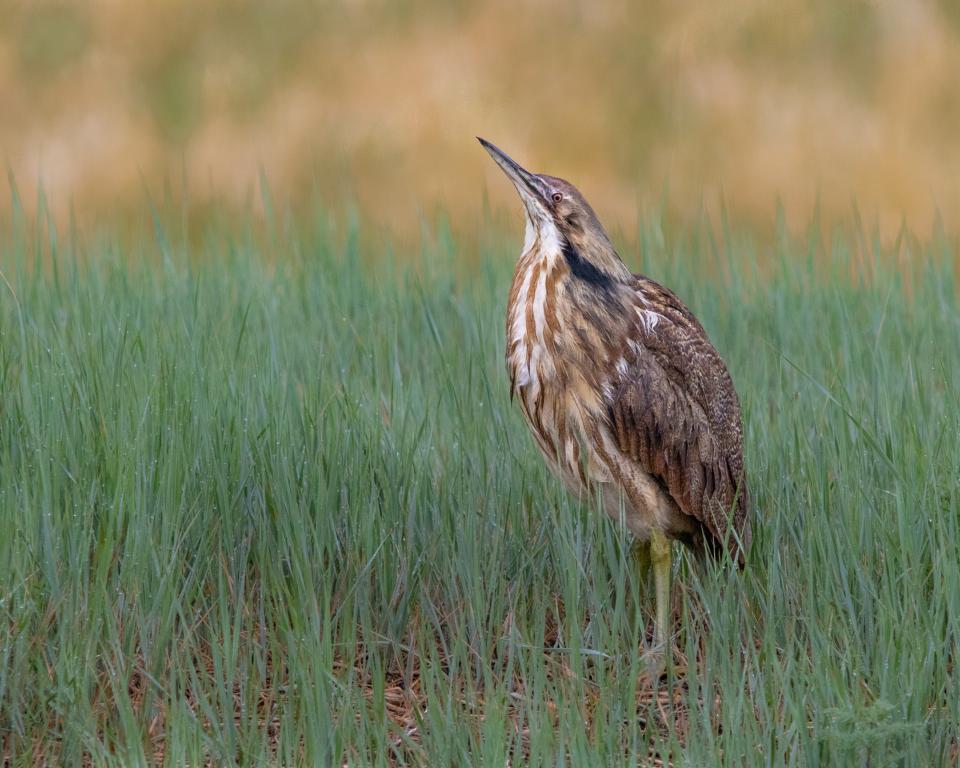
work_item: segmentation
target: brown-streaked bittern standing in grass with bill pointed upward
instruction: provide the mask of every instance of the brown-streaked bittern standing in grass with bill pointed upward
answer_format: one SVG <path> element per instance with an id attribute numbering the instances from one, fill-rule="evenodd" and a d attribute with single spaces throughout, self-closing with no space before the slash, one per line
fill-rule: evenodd
<path id="1" fill-rule="evenodd" d="M 693 313 L 630 272 L 572 184 L 479 141 L 526 213 L 507 302 L 511 397 L 554 473 L 598 495 L 652 560 L 665 644 L 670 541 L 741 566 L 750 545 L 736 390 Z"/>

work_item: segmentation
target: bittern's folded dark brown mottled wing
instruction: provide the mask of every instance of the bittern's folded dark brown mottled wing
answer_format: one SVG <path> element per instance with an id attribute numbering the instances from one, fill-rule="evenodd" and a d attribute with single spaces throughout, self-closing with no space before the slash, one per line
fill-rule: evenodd
<path id="1" fill-rule="evenodd" d="M 663 291 L 639 304 L 657 319 L 645 323 L 641 315 L 635 355 L 608 390 L 611 432 L 624 456 L 742 561 L 749 500 L 733 383 L 689 310 L 666 289 L 647 285 Z"/>

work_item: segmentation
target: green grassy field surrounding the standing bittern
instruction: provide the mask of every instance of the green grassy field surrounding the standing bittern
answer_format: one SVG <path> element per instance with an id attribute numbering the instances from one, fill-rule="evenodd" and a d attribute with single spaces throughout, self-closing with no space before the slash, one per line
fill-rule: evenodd
<path id="1" fill-rule="evenodd" d="M 947 238 L 620 238 L 728 361 L 755 499 L 652 683 L 626 536 L 508 400 L 519 225 L 472 267 L 172 231 L 0 234 L 4 763 L 956 764 Z"/>

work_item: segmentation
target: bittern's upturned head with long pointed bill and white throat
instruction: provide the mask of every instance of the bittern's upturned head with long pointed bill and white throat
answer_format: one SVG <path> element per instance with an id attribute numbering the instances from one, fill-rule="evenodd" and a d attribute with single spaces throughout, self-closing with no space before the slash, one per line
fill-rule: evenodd
<path id="1" fill-rule="evenodd" d="M 531 173 L 506 152 L 489 141 L 477 137 L 500 169 L 513 182 L 523 202 L 527 218 L 527 242 L 541 247 L 556 247 L 571 261 L 571 268 L 583 267 L 584 274 L 598 279 L 627 280 L 630 270 L 617 255 L 606 230 L 584 199 L 569 181 Z"/>

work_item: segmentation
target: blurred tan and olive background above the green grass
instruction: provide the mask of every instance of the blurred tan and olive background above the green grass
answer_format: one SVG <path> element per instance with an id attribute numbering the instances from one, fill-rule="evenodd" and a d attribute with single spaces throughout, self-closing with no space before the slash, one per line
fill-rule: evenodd
<path id="1" fill-rule="evenodd" d="M 884 236 L 955 232 L 960 2 L 0 0 L 0 157 L 58 219 L 163 190 L 259 210 L 262 174 L 294 208 L 456 231 L 516 207 L 475 135 L 612 228 L 855 204 Z"/>

